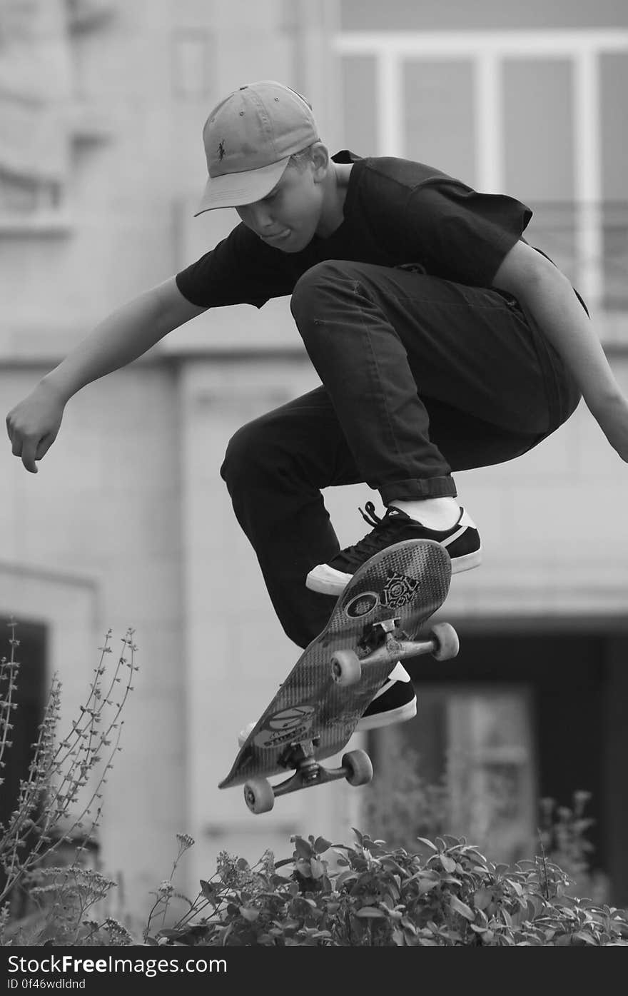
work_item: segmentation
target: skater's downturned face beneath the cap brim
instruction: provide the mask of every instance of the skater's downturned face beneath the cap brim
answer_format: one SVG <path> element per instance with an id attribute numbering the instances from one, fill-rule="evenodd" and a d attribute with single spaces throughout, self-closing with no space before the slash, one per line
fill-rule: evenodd
<path id="1" fill-rule="evenodd" d="M 320 222 L 323 187 L 314 162 L 303 168 L 291 162 L 263 200 L 236 210 L 263 242 L 282 252 L 301 252 L 312 241 Z"/>

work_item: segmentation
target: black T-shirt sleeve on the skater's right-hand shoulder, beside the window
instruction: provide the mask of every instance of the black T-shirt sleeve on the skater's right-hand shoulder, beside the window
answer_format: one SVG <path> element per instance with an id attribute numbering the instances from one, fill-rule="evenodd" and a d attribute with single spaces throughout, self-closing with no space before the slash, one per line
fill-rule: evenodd
<path id="1" fill-rule="evenodd" d="M 406 251 L 435 276 L 490 287 L 531 216 L 514 197 L 477 193 L 453 179 L 428 182 L 413 188 L 405 206 Z"/>

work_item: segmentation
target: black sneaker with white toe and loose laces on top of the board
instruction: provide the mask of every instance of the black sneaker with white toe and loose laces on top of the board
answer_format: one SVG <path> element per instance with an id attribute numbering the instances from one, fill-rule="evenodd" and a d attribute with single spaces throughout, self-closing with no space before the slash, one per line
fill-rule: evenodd
<path id="1" fill-rule="evenodd" d="M 372 502 L 366 502 L 364 507 L 366 512 L 359 509 L 361 516 L 374 528 L 359 543 L 341 550 L 328 564 L 314 567 L 306 578 L 306 587 L 311 591 L 321 592 L 323 595 L 340 595 L 358 567 L 365 564 L 373 554 L 403 540 L 436 540 L 451 557 L 452 574 L 470 571 L 482 562 L 480 534 L 464 508 L 460 510 L 456 525 L 441 531 L 428 529 L 394 505 L 387 509 L 383 519 L 375 515 Z"/>

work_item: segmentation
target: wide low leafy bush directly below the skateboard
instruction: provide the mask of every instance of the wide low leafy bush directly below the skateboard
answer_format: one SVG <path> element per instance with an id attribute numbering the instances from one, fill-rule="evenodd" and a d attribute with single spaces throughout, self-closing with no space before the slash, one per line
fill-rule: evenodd
<path id="1" fill-rule="evenodd" d="M 566 894 L 570 879 L 536 858 L 494 865 L 464 838 L 390 851 L 294 837 L 292 858 L 253 868 L 222 854 L 212 881 L 148 944 L 284 947 L 628 946 L 628 913 Z M 428 857 L 424 858 L 425 849 Z"/>

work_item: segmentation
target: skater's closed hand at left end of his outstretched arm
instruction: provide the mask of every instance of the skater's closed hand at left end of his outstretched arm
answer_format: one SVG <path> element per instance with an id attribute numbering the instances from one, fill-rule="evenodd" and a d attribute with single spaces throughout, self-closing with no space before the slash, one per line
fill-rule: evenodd
<path id="1" fill-rule="evenodd" d="M 46 455 L 57 438 L 64 408 L 65 402 L 60 394 L 42 380 L 7 415 L 7 432 L 13 443 L 13 455 L 22 458 L 22 463 L 31 474 L 38 472 L 35 461 Z"/>

